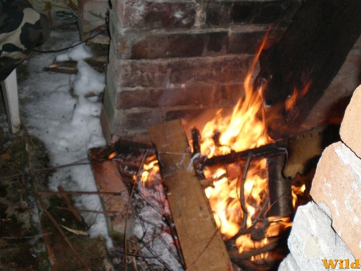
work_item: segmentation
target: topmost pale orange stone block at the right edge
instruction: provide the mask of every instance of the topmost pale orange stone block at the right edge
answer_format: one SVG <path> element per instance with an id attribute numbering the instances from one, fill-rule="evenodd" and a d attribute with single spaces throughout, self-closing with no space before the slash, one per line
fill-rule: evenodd
<path id="1" fill-rule="evenodd" d="M 353 92 L 340 128 L 341 140 L 361 158 L 361 85 Z"/>

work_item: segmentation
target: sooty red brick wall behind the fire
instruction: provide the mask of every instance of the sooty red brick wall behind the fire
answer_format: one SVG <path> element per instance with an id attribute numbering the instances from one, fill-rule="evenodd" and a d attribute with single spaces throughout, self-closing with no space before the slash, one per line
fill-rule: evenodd
<path id="1" fill-rule="evenodd" d="M 277 39 L 300 3 L 112 0 L 107 140 L 146 141 L 150 125 L 233 107 L 265 31 L 276 23 Z"/>

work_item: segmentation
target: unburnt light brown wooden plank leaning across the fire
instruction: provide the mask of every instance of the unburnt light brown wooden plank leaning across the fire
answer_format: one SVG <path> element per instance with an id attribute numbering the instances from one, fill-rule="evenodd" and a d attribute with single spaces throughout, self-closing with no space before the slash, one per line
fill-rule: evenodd
<path id="1" fill-rule="evenodd" d="M 180 120 L 149 128 L 187 268 L 232 270 L 225 243 L 196 173 Z"/>

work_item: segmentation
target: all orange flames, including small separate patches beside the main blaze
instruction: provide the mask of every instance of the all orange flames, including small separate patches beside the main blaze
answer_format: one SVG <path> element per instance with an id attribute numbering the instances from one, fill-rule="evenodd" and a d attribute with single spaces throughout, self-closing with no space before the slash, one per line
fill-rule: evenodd
<path id="1" fill-rule="evenodd" d="M 271 143 L 266 134 L 262 120 L 263 101 L 261 92 L 255 91 L 251 78 L 255 70 L 260 52 L 267 40 L 266 34 L 260 49 L 253 60 L 248 75 L 244 82 L 244 98 L 239 99 L 233 113 L 222 115 L 219 110 L 216 116 L 207 122 L 201 132 L 201 153 L 203 156 L 213 157 L 243 151 Z M 305 95 L 310 82 L 305 88 L 294 94 L 286 101 L 286 108 L 294 105 L 297 95 Z M 269 238 L 277 236 L 292 225 L 289 217 L 267 217 L 268 189 L 266 160 L 251 161 L 247 170 L 247 178 L 243 185 L 244 198 L 241 195 L 241 179 L 245 165 L 230 165 L 227 168 L 207 168 L 205 176 L 213 185 L 205 189 L 209 199 L 214 218 L 226 239 L 235 238 L 235 243 L 240 253 L 254 248 L 261 248 L 269 244 Z M 159 171 L 159 166 L 154 158 L 144 165 L 141 180 L 151 180 L 151 176 Z M 245 203 L 246 212 L 243 211 L 241 202 Z M 246 228 L 257 228 L 267 225 L 263 237 L 255 240 L 251 234 L 240 234 Z M 242 228 L 243 227 L 243 228 Z M 258 229 L 258 228 L 257 228 Z M 262 253 L 266 257 L 268 253 Z"/>

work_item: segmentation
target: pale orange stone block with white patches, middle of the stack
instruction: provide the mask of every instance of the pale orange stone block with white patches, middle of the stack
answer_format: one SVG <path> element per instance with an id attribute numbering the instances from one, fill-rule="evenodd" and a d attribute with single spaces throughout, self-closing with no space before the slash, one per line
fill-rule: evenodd
<path id="1" fill-rule="evenodd" d="M 361 257 L 361 160 L 344 144 L 327 147 L 318 162 L 310 195 L 328 206 L 332 227 L 356 258 Z"/>

